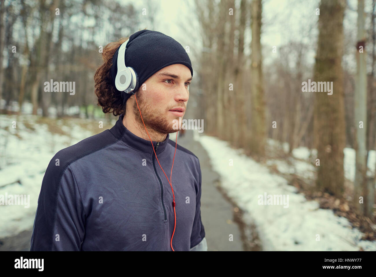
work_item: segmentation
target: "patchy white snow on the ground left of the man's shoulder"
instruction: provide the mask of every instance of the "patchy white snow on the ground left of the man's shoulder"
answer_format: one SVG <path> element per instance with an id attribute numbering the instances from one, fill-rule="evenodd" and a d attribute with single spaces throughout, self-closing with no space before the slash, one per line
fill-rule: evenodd
<path id="1" fill-rule="evenodd" d="M 60 125 L 71 136 L 52 134 L 46 124 L 36 123 L 36 118 L 0 115 L 0 197 L 26 195 L 23 200 L 27 202 L 26 205 L 25 202 L 24 205 L 0 205 L 0 238 L 33 227 L 44 172 L 50 160 L 59 150 L 94 135 L 74 120 L 69 127 Z M 13 121 L 16 128 L 12 128 Z"/>

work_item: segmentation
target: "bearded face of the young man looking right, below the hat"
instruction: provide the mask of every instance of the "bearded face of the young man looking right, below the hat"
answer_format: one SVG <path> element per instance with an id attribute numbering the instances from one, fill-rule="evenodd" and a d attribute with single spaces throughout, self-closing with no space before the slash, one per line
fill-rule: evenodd
<path id="1" fill-rule="evenodd" d="M 175 76 L 170 76 L 175 75 Z M 188 84 L 191 82 L 191 71 L 183 64 L 171 64 L 156 72 L 145 81 L 145 90 L 141 84 L 135 93 L 146 128 L 152 128 L 162 134 L 177 132 L 173 129 L 174 119 L 185 114 L 189 98 Z M 132 98 L 134 95 L 131 96 Z M 173 112 L 182 110 L 182 112 Z M 136 104 L 133 104 L 136 121 L 143 125 Z M 176 125 L 176 124 L 175 124 Z"/>

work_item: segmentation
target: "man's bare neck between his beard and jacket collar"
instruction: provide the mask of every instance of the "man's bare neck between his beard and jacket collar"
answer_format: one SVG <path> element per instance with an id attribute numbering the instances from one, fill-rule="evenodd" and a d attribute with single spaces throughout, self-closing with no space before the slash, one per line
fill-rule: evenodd
<path id="1" fill-rule="evenodd" d="M 132 112 L 128 112 L 124 115 L 123 125 L 130 132 L 132 132 L 134 135 L 136 135 L 140 138 L 146 139 L 148 141 L 150 139 L 152 139 L 152 141 L 161 142 L 161 141 L 164 141 L 167 138 L 167 134 L 162 134 L 162 133 L 156 132 L 152 128 L 146 127 L 147 132 L 149 133 L 149 136 L 150 136 L 150 138 L 149 138 L 149 136 L 147 135 L 147 132 L 145 130 L 143 122 L 141 122 L 141 124 L 136 122 L 135 116 L 133 115 Z"/>

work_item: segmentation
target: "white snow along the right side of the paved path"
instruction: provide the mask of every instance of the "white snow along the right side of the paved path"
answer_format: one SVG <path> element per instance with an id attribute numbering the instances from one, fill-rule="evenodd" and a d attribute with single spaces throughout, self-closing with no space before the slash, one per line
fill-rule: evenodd
<path id="1" fill-rule="evenodd" d="M 267 166 L 217 138 L 195 136 L 195 139 L 208 152 L 213 169 L 221 176 L 221 186 L 247 212 L 247 223 L 256 224 L 264 250 L 358 251 L 362 247 L 366 251 L 376 251 L 376 242 L 360 240 L 362 233 L 352 228 L 345 217 L 336 216 L 332 210 L 320 209 L 316 201 L 307 201 L 302 194 L 296 193 L 295 187 L 287 184 L 286 179 L 271 174 Z M 306 150 L 297 150 L 294 154 L 302 157 L 304 151 L 309 154 Z M 230 159 L 233 165 L 230 165 Z M 345 158 L 345 168 L 351 167 L 348 159 Z M 284 204 L 288 205 L 268 201 L 267 204 L 274 205 L 259 205 L 265 193 L 267 196 L 285 196 Z"/>

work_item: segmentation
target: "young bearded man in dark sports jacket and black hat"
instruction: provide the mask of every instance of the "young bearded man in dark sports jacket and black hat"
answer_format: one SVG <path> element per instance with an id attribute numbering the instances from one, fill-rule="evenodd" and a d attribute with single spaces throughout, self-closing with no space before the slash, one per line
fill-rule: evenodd
<path id="1" fill-rule="evenodd" d="M 188 103 L 190 58 L 167 35 L 136 32 L 123 54 L 137 74 L 126 93 L 115 84 L 124 41 L 103 49 L 94 76 L 98 104 L 119 119 L 52 158 L 30 251 L 207 251 L 199 159 L 169 139 Z"/>

